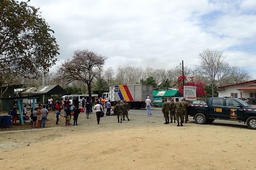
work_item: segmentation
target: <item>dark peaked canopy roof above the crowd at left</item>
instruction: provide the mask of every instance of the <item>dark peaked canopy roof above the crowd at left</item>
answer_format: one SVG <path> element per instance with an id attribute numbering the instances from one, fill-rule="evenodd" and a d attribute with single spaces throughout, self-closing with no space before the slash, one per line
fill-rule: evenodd
<path id="1" fill-rule="evenodd" d="M 68 94 L 59 85 L 41 85 L 39 87 L 29 87 L 21 91 L 20 96 L 33 96 L 33 95 L 51 95 L 51 94 Z"/>

